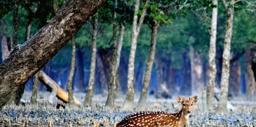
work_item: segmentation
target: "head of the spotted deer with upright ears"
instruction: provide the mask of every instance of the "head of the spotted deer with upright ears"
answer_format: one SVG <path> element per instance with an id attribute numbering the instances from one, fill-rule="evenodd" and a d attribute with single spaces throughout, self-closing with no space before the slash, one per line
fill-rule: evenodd
<path id="1" fill-rule="evenodd" d="M 193 104 L 197 102 L 198 97 L 194 96 L 191 98 L 191 96 L 189 97 L 188 100 L 185 99 L 185 97 L 177 97 L 177 102 L 180 103 L 182 105 L 182 112 L 183 114 L 190 114 L 193 110 Z"/>

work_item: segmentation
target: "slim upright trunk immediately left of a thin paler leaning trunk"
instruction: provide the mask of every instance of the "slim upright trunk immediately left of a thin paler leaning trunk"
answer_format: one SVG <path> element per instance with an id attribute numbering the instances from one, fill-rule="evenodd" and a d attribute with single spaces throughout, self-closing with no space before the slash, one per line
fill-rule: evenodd
<path id="1" fill-rule="evenodd" d="M 117 1 L 115 0 L 115 3 Z M 115 96 L 115 89 L 116 89 L 116 12 L 113 13 L 114 22 L 113 22 L 113 49 L 112 49 L 112 58 L 111 58 L 111 65 L 110 65 L 110 81 L 108 85 L 108 98 L 106 102 L 106 106 L 113 107 L 114 106 L 114 96 Z"/>

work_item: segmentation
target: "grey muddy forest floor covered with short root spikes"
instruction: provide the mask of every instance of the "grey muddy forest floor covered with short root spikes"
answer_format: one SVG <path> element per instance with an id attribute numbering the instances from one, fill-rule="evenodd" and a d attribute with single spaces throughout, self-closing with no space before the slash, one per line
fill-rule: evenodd
<path id="1" fill-rule="evenodd" d="M 46 100 L 49 92 L 39 92 L 41 101 L 37 105 L 25 102 L 23 105 L 6 105 L 0 115 L 0 127 L 4 126 L 66 126 L 66 127 L 113 127 L 131 112 L 123 111 L 121 106 L 124 98 L 115 100 L 114 109 L 106 108 L 106 96 L 96 95 L 93 97 L 93 106 L 68 106 L 57 109 L 61 101 L 55 99 L 53 104 Z M 30 100 L 31 92 L 25 91 L 23 100 Z M 83 93 L 75 93 L 75 96 L 83 102 Z M 136 96 L 135 96 L 136 97 Z M 245 97 L 236 97 L 230 102 L 235 111 L 229 111 L 224 115 L 214 113 L 202 113 L 202 102 L 199 100 L 194 106 L 194 111 L 189 116 L 187 126 L 189 127 L 256 127 L 256 102 L 246 101 Z M 138 100 L 135 100 L 135 104 Z M 178 112 L 181 106 L 172 99 L 155 99 L 149 97 L 147 111 Z M 137 111 L 137 109 L 134 109 Z"/>

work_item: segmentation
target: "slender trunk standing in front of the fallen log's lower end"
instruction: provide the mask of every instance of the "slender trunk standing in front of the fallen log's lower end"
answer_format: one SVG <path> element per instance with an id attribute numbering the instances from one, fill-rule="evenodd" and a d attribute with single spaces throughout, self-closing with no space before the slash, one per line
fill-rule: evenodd
<path id="1" fill-rule="evenodd" d="M 75 62 L 76 62 L 76 45 L 75 45 L 75 37 L 72 37 L 72 58 L 71 58 L 71 69 L 69 73 L 69 81 L 67 83 L 67 91 L 69 93 L 69 105 L 75 105 L 74 97 L 73 97 L 73 76 L 75 72 Z"/>

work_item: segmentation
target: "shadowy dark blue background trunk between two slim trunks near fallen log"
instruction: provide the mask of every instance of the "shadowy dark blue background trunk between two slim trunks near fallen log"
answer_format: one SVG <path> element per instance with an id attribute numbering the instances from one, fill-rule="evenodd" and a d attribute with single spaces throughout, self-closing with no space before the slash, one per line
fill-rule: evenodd
<path id="1" fill-rule="evenodd" d="M 75 71 L 75 81 L 76 81 L 76 90 L 85 91 L 84 87 L 84 64 L 83 64 L 83 53 L 81 49 L 76 52 L 76 71 Z"/>

